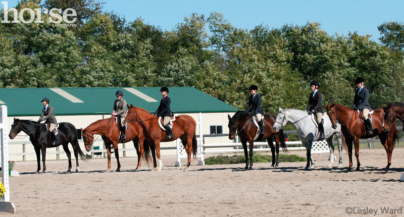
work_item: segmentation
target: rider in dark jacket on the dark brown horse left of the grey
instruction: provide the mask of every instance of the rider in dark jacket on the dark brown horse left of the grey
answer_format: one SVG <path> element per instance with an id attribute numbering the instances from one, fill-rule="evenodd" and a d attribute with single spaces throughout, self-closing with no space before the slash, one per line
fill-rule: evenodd
<path id="1" fill-rule="evenodd" d="M 257 118 L 258 126 L 260 126 L 260 134 L 265 134 L 265 129 L 264 129 L 264 122 L 262 121 L 263 119 L 263 113 L 262 113 L 262 108 L 261 108 L 261 96 L 257 93 L 258 87 L 256 85 L 251 85 L 249 87 L 249 92 L 251 95 L 248 98 L 248 105 L 247 105 L 247 113 L 251 113 L 252 116 L 255 116 Z"/>

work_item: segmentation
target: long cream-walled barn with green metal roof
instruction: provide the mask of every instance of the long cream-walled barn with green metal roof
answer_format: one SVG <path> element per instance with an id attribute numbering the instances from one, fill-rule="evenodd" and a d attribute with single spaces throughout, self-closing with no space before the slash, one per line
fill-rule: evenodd
<path id="1" fill-rule="evenodd" d="M 81 149 L 85 152 L 80 128 L 91 123 L 111 117 L 115 92 L 122 90 L 124 99 L 128 104 L 145 108 L 154 113 L 161 100 L 160 87 L 93 87 L 93 88 L 1 88 L 0 105 L 8 107 L 8 123 L 11 125 L 14 118 L 37 121 L 43 105 L 43 97 L 50 99 L 55 109 L 58 122 L 72 123 L 79 134 Z M 200 122 L 203 134 L 228 133 L 227 115 L 233 115 L 237 108 L 216 99 L 193 87 L 169 87 L 171 98 L 171 111 L 176 115 L 189 115 Z M 25 133 L 9 141 L 11 160 L 36 160 L 35 151 Z M 94 146 L 104 147 L 104 143 L 97 139 Z M 228 143 L 227 137 L 206 137 L 206 143 Z M 176 142 L 161 143 L 162 155 L 177 154 Z M 119 149 L 133 148 L 132 142 L 120 144 Z M 72 151 L 72 147 L 69 145 Z M 103 149 L 103 148 L 101 148 Z M 125 151 L 120 156 L 136 156 L 135 151 Z M 47 149 L 46 159 L 67 159 L 62 147 Z"/>

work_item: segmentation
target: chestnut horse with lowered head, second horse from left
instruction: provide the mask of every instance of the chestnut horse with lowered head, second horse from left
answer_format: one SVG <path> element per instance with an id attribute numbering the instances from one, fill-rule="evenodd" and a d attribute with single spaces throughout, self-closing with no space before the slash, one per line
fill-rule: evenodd
<path id="1" fill-rule="evenodd" d="M 118 152 L 118 140 L 119 140 L 119 129 L 116 124 L 115 118 L 107 118 L 98 120 L 86 127 L 81 128 L 81 134 L 83 136 L 84 146 L 87 151 L 91 150 L 91 146 L 94 140 L 94 134 L 101 135 L 103 138 L 108 154 L 108 167 L 107 171 L 111 170 L 111 144 L 115 150 L 115 157 L 117 158 L 117 172 L 120 171 L 121 164 L 119 162 L 119 152 Z M 140 169 L 142 156 L 144 154 L 145 161 L 149 162 L 150 159 L 150 149 L 147 142 L 144 141 L 143 129 L 138 123 L 128 124 L 128 129 L 126 130 L 126 139 L 121 141 L 121 143 L 133 141 L 137 153 L 137 167 Z"/>

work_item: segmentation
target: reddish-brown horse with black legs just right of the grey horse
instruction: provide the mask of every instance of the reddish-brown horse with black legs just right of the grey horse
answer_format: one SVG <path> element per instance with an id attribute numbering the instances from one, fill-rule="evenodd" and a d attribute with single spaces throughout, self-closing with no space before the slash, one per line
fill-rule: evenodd
<path id="1" fill-rule="evenodd" d="M 348 147 L 348 170 L 351 170 L 352 168 L 352 142 L 355 143 L 355 156 L 358 164 L 356 170 L 360 170 L 361 163 L 359 162 L 359 139 L 374 136 L 379 136 L 380 142 L 383 144 L 384 149 L 387 152 L 386 169 L 390 167 L 391 153 L 393 152 L 395 142 L 398 142 L 398 132 L 395 128 L 395 124 L 391 125 L 387 132 L 383 131 L 383 110 L 381 108 L 374 110 L 374 113 L 372 114 L 373 135 L 367 136 L 365 132 L 365 124 L 362 123 L 358 113 L 352 110 L 352 108 L 334 103 L 330 103 L 329 105 L 323 107 L 327 110 L 327 115 L 330 117 L 333 128 L 337 126 L 337 121 L 341 124 L 341 131 L 345 137 L 345 142 Z"/>

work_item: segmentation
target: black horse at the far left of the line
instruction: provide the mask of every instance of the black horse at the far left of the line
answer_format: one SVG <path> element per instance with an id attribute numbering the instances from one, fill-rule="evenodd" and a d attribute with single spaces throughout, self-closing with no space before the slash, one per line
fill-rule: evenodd
<path id="1" fill-rule="evenodd" d="M 41 165 L 39 163 L 40 161 L 39 154 L 42 152 L 42 162 L 43 162 L 42 173 L 44 173 L 46 171 L 46 165 L 45 165 L 46 148 L 53 148 L 59 145 L 63 146 L 63 150 L 65 150 L 66 155 L 69 158 L 69 168 L 67 172 L 70 173 L 72 169 L 72 160 L 70 150 L 68 147 L 69 142 L 73 147 L 74 156 L 76 157 L 76 172 L 80 172 L 78 155 L 80 155 L 80 158 L 83 160 L 85 160 L 86 157 L 80 149 L 79 142 L 77 140 L 76 127 L 74 127 L 72 124 L 64 122 L 59 123 L 58 134 L 56 135 L 59 139 L 58 144 L 56 145 L 54 144 L 51 135 L 49 134 L 49 131 L 46 129 L 45 124 L 39 124 L 36 121 L 19 120 L 14 118 L 14 122 L 11 125 L 11 130 L 9 134 L 10 139 L 14 139 L 16 135 L 21 131 L 23 131 L 29 136 L 31 143 L 34 146 L 36 153 L 36 161 L 38 162 L 38 169 L 36 170 L 37 174 L 39 174 L 39 170 L 41 169 Z"/>

